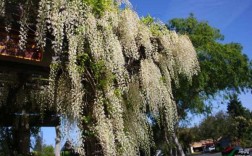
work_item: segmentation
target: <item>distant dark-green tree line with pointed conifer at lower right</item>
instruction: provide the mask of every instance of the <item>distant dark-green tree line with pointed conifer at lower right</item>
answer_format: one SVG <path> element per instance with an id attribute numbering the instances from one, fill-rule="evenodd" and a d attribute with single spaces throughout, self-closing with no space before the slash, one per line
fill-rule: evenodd
<path id="1" fill-rule="evenodd" d="M 230 97 L 226 111 L 206 116 L 199 125 L 179 128 L 179 139 L 184 148 L 194 141 L 228 138 L 230 144 L 252 146 L 252 111 L 242 106 L 234 94 Z"/>

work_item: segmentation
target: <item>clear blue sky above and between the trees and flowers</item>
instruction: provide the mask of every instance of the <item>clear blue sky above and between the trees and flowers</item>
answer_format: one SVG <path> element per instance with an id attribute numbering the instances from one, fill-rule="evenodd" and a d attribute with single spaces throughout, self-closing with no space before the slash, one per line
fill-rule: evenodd
<path id="1" fill-rule="evenodd" d="M 224 42 L 242 44 L 243 53 L 252 59 L 252 0 L 131 0 L 131 3 L 140 17 L 150 14 L 163 22 L 194 13 L 197 19 L 220 29 Z M 252 110 L 250 93 L 242 94 L 240 100 Z M 226 110 L 226 105 L 215 107 Z M 43 134 L 45 142 L 54 145 L 54 129 L 43 129 Z"/>

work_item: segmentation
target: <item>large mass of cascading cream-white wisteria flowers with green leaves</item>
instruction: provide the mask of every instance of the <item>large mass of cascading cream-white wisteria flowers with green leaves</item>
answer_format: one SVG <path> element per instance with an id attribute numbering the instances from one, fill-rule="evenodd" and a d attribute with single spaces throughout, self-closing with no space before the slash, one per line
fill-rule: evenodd
<path id="1" fill-rule="evenodd" d="M 120 10 L 122 3 L 126 9 Z M 49 33 L 57 57 L 40 94 L 79 123 L 84 146 L 94 137 L 104 155 L 138 155 L 139 149 L 149 155 L 148 115 L 172 133 L 177 109 L 171 83 L 179 74 L 190 80 L 199 64 L 187 36 L 141 21 L 128 1 L 110 5 L 101 14 L 90 1 L 40 0 L 36 41 L 48 46 Z"/>

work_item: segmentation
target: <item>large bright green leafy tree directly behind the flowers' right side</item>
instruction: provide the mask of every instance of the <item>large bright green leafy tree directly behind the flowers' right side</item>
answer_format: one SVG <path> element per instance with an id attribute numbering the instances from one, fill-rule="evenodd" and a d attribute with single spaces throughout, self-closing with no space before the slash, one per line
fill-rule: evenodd
<path id="1" fill-rule="evenodd" d="M 205 21 L 198 21 L 193 14 L 188 18 L 174 18 L 167 24 L 168 29 L 187 34 L 196 48 L 201 72 L 191 83 L 180 79 L 179 88 L 173 88 L 179 114 L 186 112 L 210 112 L 206 100 L 221 93 L 238 93 L 251 89 L 252 68 L 248 57 L 242 54 L 239 43 L 223 44 L 220 30 Z M 224 72 L 225 71 L 225 72 Z"/>

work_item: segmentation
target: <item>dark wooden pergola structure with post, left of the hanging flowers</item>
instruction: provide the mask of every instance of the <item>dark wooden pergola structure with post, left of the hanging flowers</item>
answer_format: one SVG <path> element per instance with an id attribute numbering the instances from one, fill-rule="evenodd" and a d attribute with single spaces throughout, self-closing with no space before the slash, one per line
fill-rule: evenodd
<path id="1" fill-rule="evenodd" d="M 8 87 L 5 102 L 0 99 L 0 127 L 11 127 L 15 150 L 26 155 L 30 151 L 31 127 L 56 127 L 60 124 L 59 115 L 54 110 L 46 110 L 41 116 L 40 106 L 31 103 L 18 105 L 17 93 L 23 90 L 39 90 L 48 85 L 50 49 L 44 52 L 37 48 L 34 32 L 29 31 L 26 49 L 18 47 L 17 23 L 7 32 L 0 20 L 0 95 L 1 88 Z M 15 80 L 13 79 L 15 77 Z M 15 85 L 11 85 L 15 81 Z"/>

